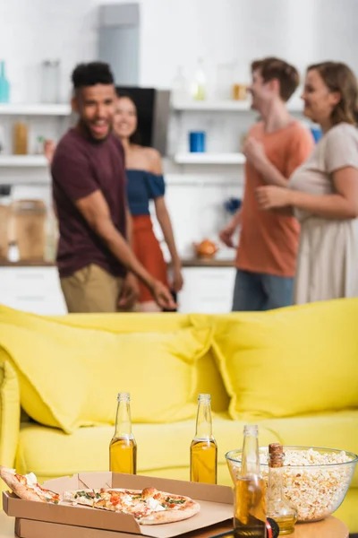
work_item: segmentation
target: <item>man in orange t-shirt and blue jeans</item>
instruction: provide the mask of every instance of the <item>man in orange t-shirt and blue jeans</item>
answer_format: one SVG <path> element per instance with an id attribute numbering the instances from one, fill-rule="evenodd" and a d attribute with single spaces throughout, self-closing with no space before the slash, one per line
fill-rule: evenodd
<path id="1" fill-rule="evenodd" d="M 270 57 L 253 62 L 251 74 L 251 107 L 260 112 L 261 121 L 251 127 L 243 148 L 243 205 L 220 233 L 220 239 L 234 247 L 234 231 L 241 225 L 233 310 L 292 304 L 299 225 L 291 214 L 260 211 L 256 189 L 262 185 L 286 187 L 294 169 L 307 160 L 313 148 L 310 131 L 286 108 L 299 83 L 294 66 Z"/>

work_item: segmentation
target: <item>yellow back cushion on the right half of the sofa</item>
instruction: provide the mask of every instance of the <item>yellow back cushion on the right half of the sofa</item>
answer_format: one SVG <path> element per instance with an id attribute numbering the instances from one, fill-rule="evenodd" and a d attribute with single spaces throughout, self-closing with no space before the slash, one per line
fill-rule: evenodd
<path id="1" fill-rule="evenodd" d="M 358 407 L 357 319 L 358 299 L 216 316 L 213 346 L 232 418 Z"/>

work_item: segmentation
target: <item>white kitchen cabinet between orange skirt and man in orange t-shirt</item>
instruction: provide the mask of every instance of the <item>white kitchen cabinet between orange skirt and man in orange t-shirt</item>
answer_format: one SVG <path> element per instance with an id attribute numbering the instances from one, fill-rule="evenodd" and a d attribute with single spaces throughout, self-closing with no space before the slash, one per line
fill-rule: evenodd
<path id="1" fill-rule="evenodd" d="M 234 267 L 184 267 L 179 312 L 225 314 L 231 311 L 234 293 Z"/>

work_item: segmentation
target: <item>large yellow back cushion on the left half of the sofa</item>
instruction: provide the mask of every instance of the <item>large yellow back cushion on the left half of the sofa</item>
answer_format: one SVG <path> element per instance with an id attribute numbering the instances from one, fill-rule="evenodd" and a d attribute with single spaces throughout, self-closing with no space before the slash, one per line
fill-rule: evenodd
<path id="1" fill-rule="evenodd" d="M 66 433 L 114 423 L 116 395 L 132 395 L 133 421 L 180 421 L 196 413 L 196 362 L 211 328 L 113 334 L 0 308 L 0 345 L 17 371 L 21 404 Z"/>

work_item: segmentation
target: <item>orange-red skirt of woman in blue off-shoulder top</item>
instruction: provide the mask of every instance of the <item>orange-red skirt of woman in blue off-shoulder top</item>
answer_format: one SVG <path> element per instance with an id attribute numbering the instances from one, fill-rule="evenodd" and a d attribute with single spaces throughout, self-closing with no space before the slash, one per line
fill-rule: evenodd
<path id="1" fill-rule="evenodd" d="M 158 239 L 154 235 L 153 224 L 149 215 L 132 216 L 132 244 L 135 256 L 148 273 L 168 286 L 166 262 Z M 138 282 L 140 287 L 139 302 L 152 301 L 153 296 L 147 286 Z"/>

